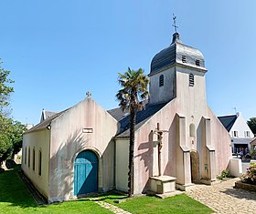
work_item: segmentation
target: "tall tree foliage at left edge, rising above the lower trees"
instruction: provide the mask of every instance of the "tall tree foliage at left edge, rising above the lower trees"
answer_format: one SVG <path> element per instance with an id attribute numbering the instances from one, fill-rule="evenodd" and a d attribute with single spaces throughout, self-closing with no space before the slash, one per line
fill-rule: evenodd
<path id="1" fill-rule="evenodd" d="M 8 76 L 10 71 L 5 70 L 2 67 L 3 62 L 0 58 L 0 114 L 4 114 L 5 107 L 9 106 L 10 94 L 14 92 L 14 88 L 9 85 L 14 83 Z"/>

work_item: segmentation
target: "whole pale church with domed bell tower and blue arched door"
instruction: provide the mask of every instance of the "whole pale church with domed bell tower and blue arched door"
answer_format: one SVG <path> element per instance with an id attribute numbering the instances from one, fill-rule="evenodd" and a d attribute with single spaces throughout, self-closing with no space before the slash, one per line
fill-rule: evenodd
<path id="1" fill-rule="evenodd" d="M 134 194 L 152 190 L 154 177 L 175 178 L 182 190 L 210 185 L 229 167 L 229 133 L 208 107 L 207 72 L 202 53 L 178 33 L 153 57 L 150 99 L 136 117 Z M 128 113 L 105 110 L 88 94 L 24 134 L 22 170 L 49 203 L 125 192 L 129 131 Z"/>

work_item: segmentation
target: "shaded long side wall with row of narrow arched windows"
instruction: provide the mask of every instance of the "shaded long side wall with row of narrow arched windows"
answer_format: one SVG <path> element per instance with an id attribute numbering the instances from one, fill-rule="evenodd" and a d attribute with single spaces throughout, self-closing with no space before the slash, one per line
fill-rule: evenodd
<path id="1" fill-rule="evenodd" d="M 49 158 L 49 135 L 48 129 L 24 134 L 22 146 L 22 169 L 27 178 L 35 185 L 38 191 L 48 198 L 48 158 Z M 25 155 L 27 148 L 27 156 Z M 28 168 L 28 148 L 30 148 L 30 167 Z M 33 148 L 35 148 L 35 170 L 33 170 Z M 38 174 L 38 152 L 41 150 L 42 165 L 41 176 Z M 25 164 L 27 157 L 27 164 Z"/>

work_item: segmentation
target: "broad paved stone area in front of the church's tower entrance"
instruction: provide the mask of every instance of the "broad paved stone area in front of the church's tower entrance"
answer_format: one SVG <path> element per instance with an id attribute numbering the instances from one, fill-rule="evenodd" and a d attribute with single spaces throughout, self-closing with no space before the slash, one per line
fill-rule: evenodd
<path id="1" fill-rule="evenodd" d="M 187 195 L 221 214 L 252 214 L 256 209 L 256 193 L 243 189 L 233 189 L 240 178 L 222 181 L 213 186 L 197 185 L 187 191 Z"/>

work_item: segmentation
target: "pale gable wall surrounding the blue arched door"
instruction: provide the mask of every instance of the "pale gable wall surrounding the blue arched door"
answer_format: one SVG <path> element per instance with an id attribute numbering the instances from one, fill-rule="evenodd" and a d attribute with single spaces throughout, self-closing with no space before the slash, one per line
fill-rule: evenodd
<path id="1" fill-rule="evenodd" d="M 92 128 L 83 133 L 82 128 Z M 73 198 L 73 167 L 84 149 L 99 157 L 99 190 L 114 185 L 114 142 L 118 122 L 93 99 L 86 98 L 51 123 L 49 201 Z"/>

